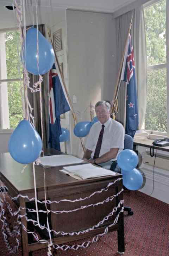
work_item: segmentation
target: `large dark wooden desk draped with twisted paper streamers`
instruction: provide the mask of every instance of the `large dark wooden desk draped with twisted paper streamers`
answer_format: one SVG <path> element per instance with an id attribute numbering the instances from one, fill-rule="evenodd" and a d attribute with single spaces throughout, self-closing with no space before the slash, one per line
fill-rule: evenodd
<path id="1" fill-rule="evenodd" d="M 46 179 L 46 193 L 48 199 L 50 200 L 61 200 L 61 199 L 71 199 L 84 198 L 89 196 L 94 191 L 98 191 L 108 185 L 109 182 L 113 182 L 121 174 L 116 174 L 114 176 L 98 177 L 95 179 L 87 180 L 76 180 L 68 175 L 65 175 L 59 171 L 61 167 L 53 167 L 45 169 L 45 179 Z M 28 164 L 25 168 L 24 173 L 21 173 L 23 169 L 23 164 L 15 162 L 9 153 L 0 154 L 0 179 L 7 186 L 9 194 L 12 196 L 17 196 L 18 194 L 27 195 L 29 198 L 35 197 L 34 193 L 34 183 L 33 183 L 33 170 L 32 164 Z M 36 166 L 36 186 L 37 186 L 37 196 L 39 200 L 44 200 L 44 179 L 43 179 L 43 167 Z M 89 205 L 96 202 L 101 202 L 105 200 L 108 196 L 116 194 L 121 190 L 123 184 L 122 181 L 116 182 L 111 186 L 107 192 L 99 193 L 92 196 L 90 199 L 70 203 L 62 202 L 61 204 L 51 204 L 51 210 L 71 210 L 82 205 Z M 51 224 L 52 229 L 57 231 L 79 231 L 87 229 L 90 226 L 97 224 L 109 212 L 112 208 L 117 206 L 118 202 L 123 199 L 123 193 L 121 193 L 117 198 L 112 201 L 105 203 L 103 205 L 88 207 L 84 210 L 63 213 L 63 214 L 51 214 Z M 19 205 L 25 207 L 25 199 L 19 199 Z M 22 211 L 22 214 L 25 212 Z M 64 244 L 67 242 L 75 241 L 82 238 L 87 238 L 89 236 L 95 236 L 96 234 L 102 233 L 106 225 L 113 222 L 116 217 L 110 218 L 104 223 L 104 226 L 94 229 L 89 233 L 79 236 L 60 236 L 55 237 L 54 241 L 57 244 Z M 25 218 L 21 218 L 21 222 L 27 228 L 27 221 Z M 123 213 L 120 213 L 118 223 L 111 227 L 109 231 L 118 232 L 118 251 L 124 252 L 124 219 Z M 28 244 L 27 233 L 22 230 L 22 245 L 23 245 L 23 255 L 28 256 L 29 252 L 35 251 L 47 247 L 46 244 L 32 243 Z"/>

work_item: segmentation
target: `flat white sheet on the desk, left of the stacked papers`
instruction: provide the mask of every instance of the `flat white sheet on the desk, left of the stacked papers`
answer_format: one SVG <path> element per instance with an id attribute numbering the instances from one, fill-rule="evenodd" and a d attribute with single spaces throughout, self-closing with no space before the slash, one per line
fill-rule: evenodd
<path id="1" fill-rule="evenodd" d="M 40 164 L 43 166 L 65 166 L 84 162 L 82 159 L 70 155 L 54 155 L 39 157 Z"/>

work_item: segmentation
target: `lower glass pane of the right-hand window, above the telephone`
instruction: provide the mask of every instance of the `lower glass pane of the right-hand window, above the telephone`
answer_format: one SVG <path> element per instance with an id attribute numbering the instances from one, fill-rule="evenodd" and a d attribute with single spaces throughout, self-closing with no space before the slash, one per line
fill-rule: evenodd
<path id="1" fill-rule="evenodd" d="M 145 129 L 167 132 L 166 69 L 148 71 Z"/>

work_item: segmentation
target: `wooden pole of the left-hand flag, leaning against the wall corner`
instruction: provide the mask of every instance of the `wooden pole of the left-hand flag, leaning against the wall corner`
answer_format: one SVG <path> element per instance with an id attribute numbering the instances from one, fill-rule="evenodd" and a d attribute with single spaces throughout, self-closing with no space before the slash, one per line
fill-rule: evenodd
<path id="1" fill-rule="evenodd" d="M 56 59 L 56 62 L 57 62 L 57 66 L 58 66 L 58 69 L 59 69 L 59 71 L 60 71 L 61 78 L 62 78 L 62 82 L 63 82 L 63 86 L 64 86 L 65 92 L 66 92 L 67 97 L 68 97 L 68 100 L 69 100 L 69 104 L 70 104 L 70 107 L 71 107 L 71 114 L 72 114 L 73 120 L 74 120 L 74 125 L 76 125 L 76 124 L 77 124 L 77 117 L 76 117 L 76 115 L 75 115 L 75 112 L 74 112 L 74 109 L 73 109 L 73 104 L 71 103 L 71 99 L 70 99 L 70 96 L 69 96 L 67 87 L 66 87 L 66 85 L 65 85 L 65 82 L 64 82 L 63 74 L 62 74 L 62 71 L 61 71 L 61 68 L 60 68 L 60 65 L 59 65 L 59 62 L 58 62 L 58 58 L 57 58 L 57 55 L 56 55 L 56 52 L 55 52 L 54 44 L 53 44 L 52 39 L 51 39 L 51 37 L 50 37 L 49 29 L 48 29 L 48 36 L 49 36 L 50 42 L 51 42 L 51 44 L 52 44 L 52 47 L 53 47 L 53 49 L 54 49 L 54 54 L 55 54 L 55 59 Z M 79 138 L 80 138 L 80 137 L 79 137 Z M 83 152 L 85 152 L 85 148 L 84 148 L 84 145 L 83 145 L 82 138 L 80 138 L 80 142 L 81 142 L 81 145 L 82 145 L 82 148 L 83 148 Z"/>

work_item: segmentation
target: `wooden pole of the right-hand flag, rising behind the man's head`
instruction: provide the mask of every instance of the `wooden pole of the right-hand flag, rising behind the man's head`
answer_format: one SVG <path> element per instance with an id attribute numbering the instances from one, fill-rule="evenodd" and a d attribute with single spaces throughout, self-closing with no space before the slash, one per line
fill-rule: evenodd
<path id="1" fill-rule="evenodd" d="M 113 99 L 112 99 L 111 116 L 112 116 L 113 114 L 115 114 L 115 113 L 114 113 L 114 106 L 117 105 L 117 104 L 115 104 L 115 99 L 117 99 L 118 92 L 119 92 L 119 89 L 120 89 L 120 84 L 121 84 L 121 71 L 122 71 L 122 67 L 123 67 L 124 55 L 125 55 L 125 51 L 126 51 L 126 47 L 127 47 L 127 43 L 128 43 L 128 39 L 129 39 L 129 34 L 130 34 L 131 26 L 132 26 L 132 20 L 133 20 L 133 13 L 132 13 L 132 17 L 131 17 L 131 21 L 130 21 L 130 26 L 129 26 L 128 33 L 127 33 L 127 38 L 126 38 L 126 42 L 125 42 L 125 47 L 124 47 L 124 51 L 123 51 L 123 56 L 122 56 L 122 59 L 121 59 L 120 68 L 119 68 L 119 73 L 118 73 L 118 76 L 117 76 L 117 82 L 116 82 L 116 85 L 115 85 L 114 95 L 113 95 Z"/>

